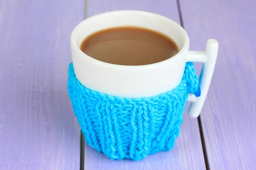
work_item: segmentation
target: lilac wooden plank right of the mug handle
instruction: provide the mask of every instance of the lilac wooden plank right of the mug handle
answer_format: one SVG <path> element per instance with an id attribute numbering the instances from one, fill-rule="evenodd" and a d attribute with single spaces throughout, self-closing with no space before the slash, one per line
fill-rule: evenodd
<path id="1" fill-rule="evenodd" d="M 256 1 L 180 2 L 192 50 L 208 38 L 219 42 L 209 94 L 201 113 L 209 167 L 255 170 Z"/>

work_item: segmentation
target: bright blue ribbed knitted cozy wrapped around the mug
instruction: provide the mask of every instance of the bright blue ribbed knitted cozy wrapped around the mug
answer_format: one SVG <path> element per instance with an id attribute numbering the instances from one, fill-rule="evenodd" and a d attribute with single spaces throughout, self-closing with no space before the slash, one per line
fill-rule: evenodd
<path id="1" fill-rule="evenodd" d="M 86 142 L 111 159 L 143 159 L 169 151 L 179 136 L 188 93 L 196 94 L 199 80 L 192 62 L 175 89 L 143 98 L 102 94 L 84 87 L 70 64 L 68 92 Z M 166 77 L 168 78 L 168 77 Z"/>

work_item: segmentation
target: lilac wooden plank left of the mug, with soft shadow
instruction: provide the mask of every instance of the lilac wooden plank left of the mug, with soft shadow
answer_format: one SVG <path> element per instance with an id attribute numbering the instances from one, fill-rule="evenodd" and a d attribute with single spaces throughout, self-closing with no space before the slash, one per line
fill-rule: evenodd
<path id="1" fill-rule="evenodd" d="M 0 0 L 0 170 L 78 170 L 67 94 L 83 0 Z"/>

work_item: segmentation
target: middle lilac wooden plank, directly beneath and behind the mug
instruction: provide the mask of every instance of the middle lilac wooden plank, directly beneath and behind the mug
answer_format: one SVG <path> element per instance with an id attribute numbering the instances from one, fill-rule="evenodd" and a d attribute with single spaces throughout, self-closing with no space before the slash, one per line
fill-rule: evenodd
<path id="1" fill-rule="evenodd" d="M 90 0 L 87 16 L 106 11 L 135 9 L 161 14 L 179 23 L 176 0 Z M 113 161 L 85 146 L 85 170 L 203 170 L 205 169 L 197 119 L 184 115 L 175 148 L 147 156 L 142 161 Z"/>

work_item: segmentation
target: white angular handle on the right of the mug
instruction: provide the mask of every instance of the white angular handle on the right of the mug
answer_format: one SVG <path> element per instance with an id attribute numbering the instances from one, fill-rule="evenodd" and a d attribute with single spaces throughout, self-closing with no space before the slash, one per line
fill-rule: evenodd
<path id="1" fill-rule="evenodd" d="M 212 80 L 212 74 L 218 54 L 218 41 L 209 39 L 205 51 L 189 51 L 187 62 L 203 62 L 203 67 L 199 77 L 201 96 L 196 97 L 194 94 L 188 95 L 188 101 L 192 102 L 189 106 L 189 116 L 198 117 L 202 111 L 205 98 Z"/>

